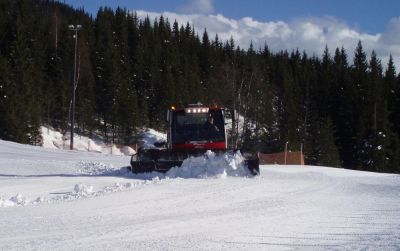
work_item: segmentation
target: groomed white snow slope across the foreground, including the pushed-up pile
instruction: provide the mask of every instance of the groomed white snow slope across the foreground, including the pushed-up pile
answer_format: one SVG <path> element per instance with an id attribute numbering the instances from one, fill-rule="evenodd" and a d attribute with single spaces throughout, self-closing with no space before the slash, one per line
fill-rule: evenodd
<path id="1" fill-rule="evenodd" d="M 133 175 L 126 156 L 0 141 L 0 250 L 400 249 L 399 175 L 261 166 L 251 178 L 225 160 Z"/>

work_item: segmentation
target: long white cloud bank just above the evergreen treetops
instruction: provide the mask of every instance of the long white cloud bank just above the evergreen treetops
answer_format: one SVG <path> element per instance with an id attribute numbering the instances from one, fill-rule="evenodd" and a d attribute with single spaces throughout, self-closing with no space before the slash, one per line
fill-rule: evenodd
<path id="1" fill-rule="evenodd" d="M 215 34 L 218 34 L 220 40 L 226 41 L 232 36 L 236 44 L 242 48 L 248 48 L 251 41 L 256 49 L 267 43 L 274 52 L 299 49 L 300 51 L 305 50 L 309 55 L 321 55 L 327 45 L 333 54 L 337 47 L 343 46 L 348 53 L 349 60 L 352 60 L 355 47 L 361 40 L 368 55 L 375 50 L 378 57 L 382 59 L 383 66 L 386 67 L 391 54 L 396 68 L 400 70 L 400 17 L 393 18 L 383 33 L 368 34 L 329 16 L 294 19 L 291 22 L 260 22 L 251 17 L 231 19 L 221 14 L 145 11 L 138 11 L 137 14 L 141 18 L 148 15 L 151 19 L 163 15 L 171 22 L 176 20 L 183 25 L 189 22 L 195 27 L 200 37 L 207 28 L 209 37 L 214 38 Z"/>

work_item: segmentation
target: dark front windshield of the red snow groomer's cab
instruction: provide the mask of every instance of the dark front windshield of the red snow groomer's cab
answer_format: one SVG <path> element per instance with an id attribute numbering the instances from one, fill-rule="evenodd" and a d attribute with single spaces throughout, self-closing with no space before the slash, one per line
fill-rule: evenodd
<path id="1" fill-rule="evenodd" d="M 175 111 L 172 115 L 172 143 L 191 141 L 225 141 L 224 120 L 221 110 L 208 113 Z"/>

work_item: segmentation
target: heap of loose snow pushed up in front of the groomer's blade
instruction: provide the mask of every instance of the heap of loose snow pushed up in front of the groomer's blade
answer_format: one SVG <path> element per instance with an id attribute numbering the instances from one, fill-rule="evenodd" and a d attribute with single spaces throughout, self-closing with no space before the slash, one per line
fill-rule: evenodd
<path id="1" fill-rule="evenodd" d="M 169 178 L 226 178 L 228 176 L 249 177 L 251 173 L 244 165 L 244 158 L 239 151 L 222 155 L 207 151 L 204 156 L 184 160 L 181 167 L 172 168 L 165 176 Z"/>

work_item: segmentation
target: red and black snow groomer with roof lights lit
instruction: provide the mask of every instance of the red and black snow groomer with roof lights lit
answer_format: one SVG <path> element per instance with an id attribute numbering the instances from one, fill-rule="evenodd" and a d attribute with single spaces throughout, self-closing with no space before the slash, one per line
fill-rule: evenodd
<path id="1" fill-rule="evenodd" d="M 237 149 L 228 148 L 228 118 L 233 122 L 234 112 L 218 106 L 195 104 L 187 108 L 171 107 L 167 112 L 167 142 L 158 142 L 152 149 L 138 149 L 131 159 L 131 171 L 167 172 L 172 167 L 181 166 L 186 158 L 202 156 L 207 150 L 217 155 L 234 154 Z M 244 165 L 251 173 L 259 174 L 257 154 L 241 154 Z"/>

